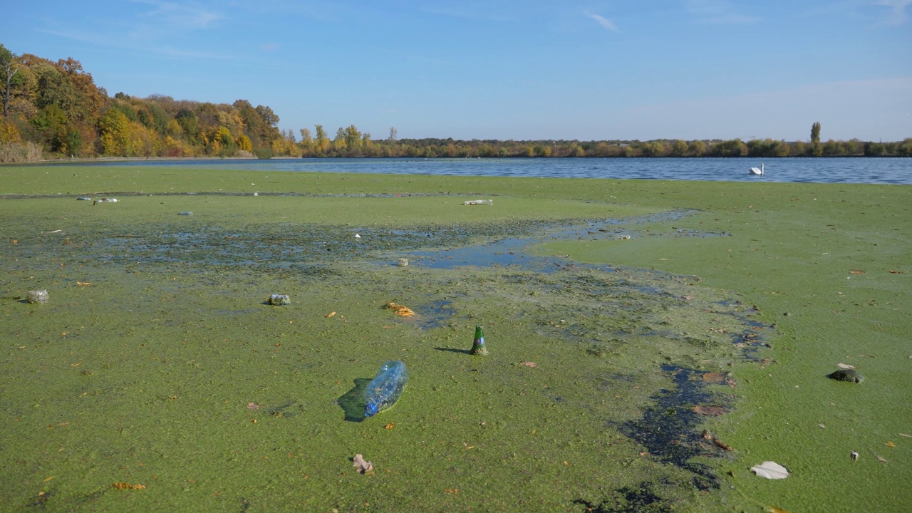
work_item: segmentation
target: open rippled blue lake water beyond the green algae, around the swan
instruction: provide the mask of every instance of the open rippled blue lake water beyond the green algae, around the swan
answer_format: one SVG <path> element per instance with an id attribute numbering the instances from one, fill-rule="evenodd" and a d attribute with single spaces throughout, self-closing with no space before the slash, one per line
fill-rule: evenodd
<path id="1" fill-rule="evenodd" d="M 765 164 L 765 174 L 748 173 Z M 731 182 L 912 184 L 912 158 L 271 159 L 106 161 L 75 165 L 212 167 L 251 171 L 637 178 Z"/>

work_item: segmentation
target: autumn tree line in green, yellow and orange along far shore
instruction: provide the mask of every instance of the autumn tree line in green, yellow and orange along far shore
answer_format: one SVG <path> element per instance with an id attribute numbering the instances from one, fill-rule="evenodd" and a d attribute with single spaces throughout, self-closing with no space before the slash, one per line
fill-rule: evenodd
<path id="1" fill-rule="evenodd" d="M 352 124 L 334 134 L 316 124 L 299 137 L 278 128 L 268 106 L 152 95 L 109 97 L 78 60 L 16 55 L 0 45 L 0 162 L 94 157 L 788 157 L 912 156 L 898 142 L 821 141 L 498 141 L 399 139 L 395 128 L 374 141 Z"/>

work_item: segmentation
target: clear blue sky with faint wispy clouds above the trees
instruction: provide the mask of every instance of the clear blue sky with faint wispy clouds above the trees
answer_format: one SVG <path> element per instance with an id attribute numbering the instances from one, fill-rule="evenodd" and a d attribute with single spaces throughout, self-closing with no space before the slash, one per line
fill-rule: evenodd
<path id="1" fill-rule="evenodd" d="M 375 140 L 912 137 L 912 0 L 9 2 L 0 43 L 109 95 Z"/>

